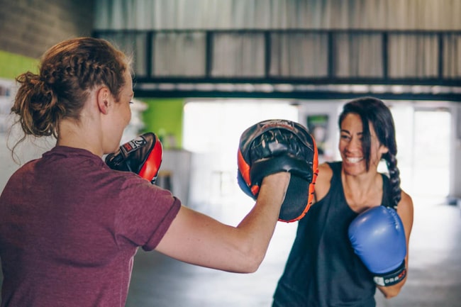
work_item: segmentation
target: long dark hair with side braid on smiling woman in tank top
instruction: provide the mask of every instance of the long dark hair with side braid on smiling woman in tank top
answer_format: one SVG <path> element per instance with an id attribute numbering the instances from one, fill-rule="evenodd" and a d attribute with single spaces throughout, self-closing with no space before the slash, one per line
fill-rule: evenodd
<path id="1" fill-rule="evenodd" d="M 391 203 L 397 207 L 401 199 L 400 171 L 397 167 L 397 143 L 395 138 L 395 125 L 391 111 L 383 101 L 374 97 L 362 97 L 349 101 L 343 106 L 338 120 L 341 125 L 346 115 L 355 113 L 362 119 L 362 148 L 367 171 L 370 169 L 371 137 L 369 123 L 372 124 L 379 143 L 388 148 L 388 152 L 382 155 L 386 161 L 391 182 Z"/>

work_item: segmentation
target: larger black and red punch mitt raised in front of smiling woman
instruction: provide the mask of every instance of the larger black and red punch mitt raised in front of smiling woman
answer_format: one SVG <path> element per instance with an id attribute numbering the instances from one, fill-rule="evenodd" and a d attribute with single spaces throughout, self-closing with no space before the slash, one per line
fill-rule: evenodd
<path id="1" fill-rule="evenodd" d="M 240 136 L 238 184 L 246 194 L 257 199 L 264 177 L 277 172 L 291 174 L 279 221 L 298 221 L 309 210 L 317 166 L 315 140 L 299 123 L 261 121 Z"/>

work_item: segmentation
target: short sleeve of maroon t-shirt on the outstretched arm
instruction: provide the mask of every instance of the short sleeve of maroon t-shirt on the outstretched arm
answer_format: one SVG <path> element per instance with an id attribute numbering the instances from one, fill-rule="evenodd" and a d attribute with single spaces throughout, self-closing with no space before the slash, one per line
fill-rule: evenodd
<path id="1" fill-rule="evenodd" d="M 177 216 L 181 201 L 145 179 L 128 179 L 119 193 L 115 217 L 117 244 L 153 250 Z"/>

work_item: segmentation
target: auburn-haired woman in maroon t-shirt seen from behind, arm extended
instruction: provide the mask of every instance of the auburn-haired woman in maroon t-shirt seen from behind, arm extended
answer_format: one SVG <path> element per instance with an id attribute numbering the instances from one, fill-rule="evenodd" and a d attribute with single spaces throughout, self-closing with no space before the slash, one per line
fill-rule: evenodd
<path id="1" fill-rule="evenodd" d="M 134 95 L 130 60 L 109 42 L 58 43 L 38 74 L 17 81 L 11 111 L 25 138 L 57 142 L 21 166 L 1 193 L 1 307 L 125 306 L 138 247 L 229 272 L 260 266 L 288 172 L 264 177 L 255 206 L 239 225 L 224 225 L 102 160 L 120 146 Z"/>

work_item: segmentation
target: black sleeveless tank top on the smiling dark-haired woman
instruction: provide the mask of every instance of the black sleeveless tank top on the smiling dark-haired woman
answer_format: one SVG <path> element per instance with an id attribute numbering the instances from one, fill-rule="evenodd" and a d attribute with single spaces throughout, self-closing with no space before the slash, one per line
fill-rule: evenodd
<path id="1" fill-rule="evenodd" d="M 328 194 L 314 203 L 299 221 L 273 307 L 374 307 L 372 275 L 348 238 L 348 227 L 357 216 L 345 200 L 341 162 L 333 170 Z M 389 179 L 383 177 L 383 206 L 389 206 Z"/>

